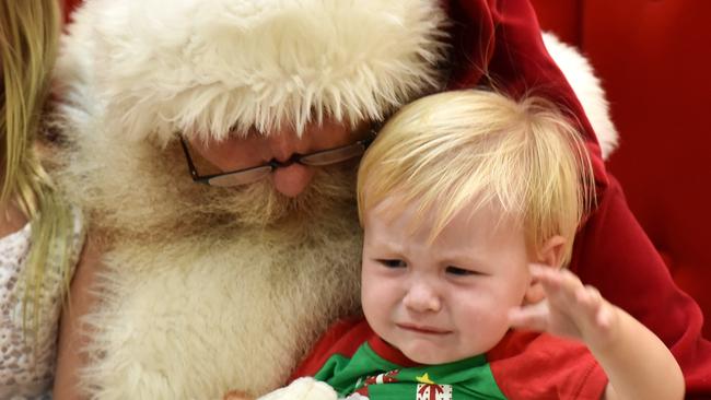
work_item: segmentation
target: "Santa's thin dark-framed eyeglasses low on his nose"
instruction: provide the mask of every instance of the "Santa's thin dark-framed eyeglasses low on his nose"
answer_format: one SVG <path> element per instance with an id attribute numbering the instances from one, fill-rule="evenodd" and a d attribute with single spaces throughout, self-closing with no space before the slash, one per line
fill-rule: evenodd
<path id="1" fill-rule="evenodd" d="M 178 134 L 178 137 L 180 138 L 180 145 L 185 152 L 185 160 L 188 163 L 188 169 L 190 170 L 193 181 L 210 186 L 230 187 L 252 184 L 266 178 L 277 168 L 288 167 L 294 163 L 308 166 L 326 166 L 360 157 L 375 139 L 375 130 L 371 130 L 370 136 L 366 139 L 359 140 L 351 144 L 320 150 L 308 154 L 294 154 L 291 158 L 284 162 L 271 160 L 263 165 L 212 175 L 198 174 L 198 170 L 193 163 L 193 157 L 190 157 L 190 151 L 188 150 L 188 144 L 186 143 L 185 138 L 183 138 L 182 134 Z"/>

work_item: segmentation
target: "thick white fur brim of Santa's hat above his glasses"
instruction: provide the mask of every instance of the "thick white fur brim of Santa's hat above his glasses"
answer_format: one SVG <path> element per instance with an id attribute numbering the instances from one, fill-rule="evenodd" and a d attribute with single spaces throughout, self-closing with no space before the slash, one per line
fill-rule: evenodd
<path id="1" fill-rule="evenodd" d="M 381 120 L 436 86 L 435 0 L 90 0 L 66 70 L 126 137 Z"/>

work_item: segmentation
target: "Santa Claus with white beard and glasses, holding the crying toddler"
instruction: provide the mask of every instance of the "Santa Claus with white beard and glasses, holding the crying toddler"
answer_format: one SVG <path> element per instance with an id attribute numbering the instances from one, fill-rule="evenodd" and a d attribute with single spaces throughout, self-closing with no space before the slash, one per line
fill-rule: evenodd
<path id="1" fill-rule="evenodd" d="M 57 399 L 285 384 L 329 323 L 359 313 L 354 174 L 376 123 L 479 84 L 548 96 L 587 132 L 601 198 L 572 269 L 711 392 L 691 360 L 693 345 L 711 353 L 700 311 L 606 174 L 527 1 L 91 0 L 73 20 L 57 71 L 58 179 L 90 243 L 62 319 Z M 586 108 L 602 110 L 609 151 L 594 78 L 570 81 L 593 83 Z"/>

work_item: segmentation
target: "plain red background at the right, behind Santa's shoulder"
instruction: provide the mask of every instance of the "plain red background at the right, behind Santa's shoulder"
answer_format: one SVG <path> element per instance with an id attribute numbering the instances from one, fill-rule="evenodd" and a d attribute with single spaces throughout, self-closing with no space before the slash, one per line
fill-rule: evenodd
<path id="1" fill-rule="evenodd" d="M 602 78 L 620 133 L 608 168 L 711 338 L 711 1 L 532 2 Z"/>

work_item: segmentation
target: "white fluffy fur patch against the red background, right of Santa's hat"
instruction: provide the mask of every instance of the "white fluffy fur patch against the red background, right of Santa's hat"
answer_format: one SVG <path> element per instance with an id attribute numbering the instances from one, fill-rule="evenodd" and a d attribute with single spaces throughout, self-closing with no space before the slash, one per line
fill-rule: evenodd
<path id="1" fill-rule="evenodd" d="M 575 48 L 560 42 L 553 34 L 544 33 L 544 43 L 558 68 L 563 72 L 568 83 L 585 110 L 590 123 L 597 134 L 603 158 L 617 148 L 618 133 L 609 115 L 609 104 L 605 91 L 590 61 Z"/>

